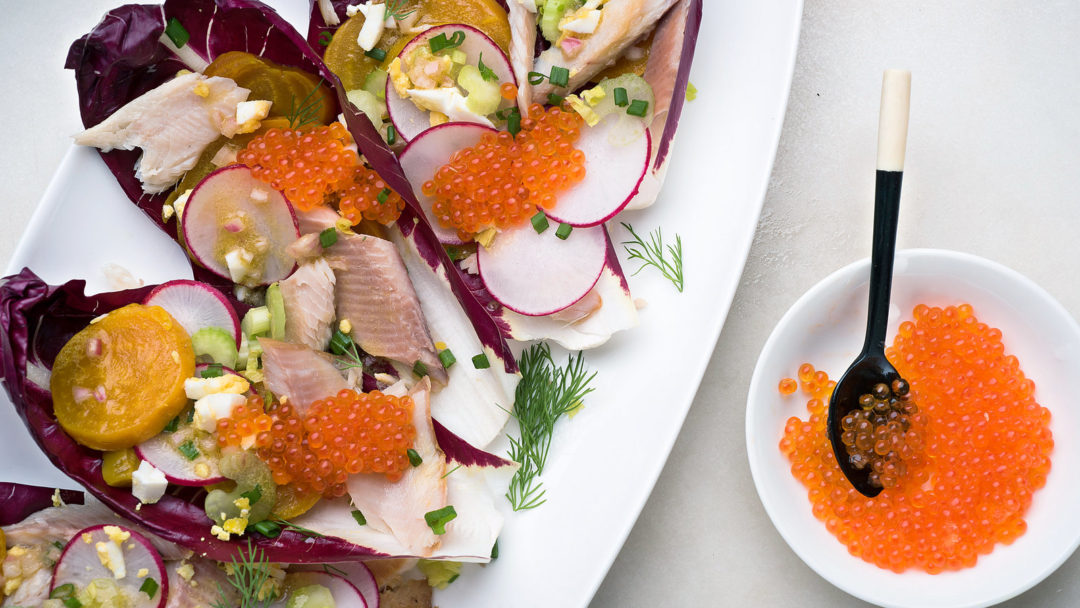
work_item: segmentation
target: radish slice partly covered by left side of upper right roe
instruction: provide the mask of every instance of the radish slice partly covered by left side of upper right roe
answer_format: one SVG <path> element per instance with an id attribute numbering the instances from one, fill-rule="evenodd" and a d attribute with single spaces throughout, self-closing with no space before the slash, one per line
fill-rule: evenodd
<path id="1" fill-rule="evenodd" d="M 428 222 L 435 231 L 435 237 L 443 244 L 461 245 L 464 241 L 458 238 L 456 230 L 443 228 L 438 224 L 431 211 L 434 201 L 420 191 L 421 187 L 424 181 L 435 176 L 436 171 L 450 162 L 454 152 L 480 144 L 481 138 L 487 133 L 498 133 L 498 131 L 471 122 L 448 122 L 424 131 L 402 150 L 402 171 L 413 185 L 413 193 L 420 201 L 420 207 L 428 216 Z"/>

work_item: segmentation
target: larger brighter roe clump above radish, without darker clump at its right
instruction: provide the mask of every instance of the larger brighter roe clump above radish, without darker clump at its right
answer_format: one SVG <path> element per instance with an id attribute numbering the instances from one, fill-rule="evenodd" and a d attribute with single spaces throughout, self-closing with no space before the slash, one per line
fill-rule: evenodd
<path id="1" fill-rule="evenodd" d="M 346 146 L 352 137 L 335 122 L 318 129 L 271 129 L 254 138 L 237 161 L 252 167 L 255 177 L 281 190 L 298 210 L 323 204 L 334 185 L 350 177 L 359 163 Z"/>

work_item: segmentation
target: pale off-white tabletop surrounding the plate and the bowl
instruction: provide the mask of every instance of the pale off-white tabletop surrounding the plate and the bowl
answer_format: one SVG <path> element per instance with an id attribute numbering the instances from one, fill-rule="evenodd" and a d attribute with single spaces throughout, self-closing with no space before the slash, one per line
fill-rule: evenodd
<path id="1" fill-rule="evenodd" d="M 0 1 L 4 265 L 80 129 L 68 43 L 114 4 Z M 761 509 L 743 438 L 754 363 L 802 292 L 869 254 L 888 67 L 914 71 L 899 246 L 988 257 L 1080 314 L 1078 33 L 1077 0 L 807 0 L 780 151 L 727 326 L 595 608 L 864 605 L 804 565 Z M 1080 605 L 1080 557 L 1007 605 Z"/>

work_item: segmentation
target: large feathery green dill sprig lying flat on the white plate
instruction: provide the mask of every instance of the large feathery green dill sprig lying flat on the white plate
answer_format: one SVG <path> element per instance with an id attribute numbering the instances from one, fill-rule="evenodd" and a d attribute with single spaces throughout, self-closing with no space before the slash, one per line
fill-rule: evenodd
<path id="1" fill-rule="evenodd" d="M 582 354 L 570 354 L 559 367 L 546 343 L 529 347 L 518 361 L 522 379 L 514 393 L 514 418 L 521 436 L 510 437 L 510 458 L 521 469 L 510 482 L 507 498 L 514 511 L 536 509 L 545 502 L 539 476 L 548 463 L 555 423 L 581 407 L 593 389 L 589 386 L 596 373 L 589 374 Z"/>

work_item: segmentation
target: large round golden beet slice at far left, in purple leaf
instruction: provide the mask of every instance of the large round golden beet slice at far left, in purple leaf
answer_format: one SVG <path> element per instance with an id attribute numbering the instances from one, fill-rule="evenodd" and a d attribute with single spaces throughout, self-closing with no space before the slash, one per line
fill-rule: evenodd
<path id="1" fill-rule="evenodd" d="M 184 380 L 194 368 L 179 323 L 161 307 L 127 305 L 60 349 L 50 382 L 56 420 L 86 447 L 132 447 L 184 409 Z"/>

